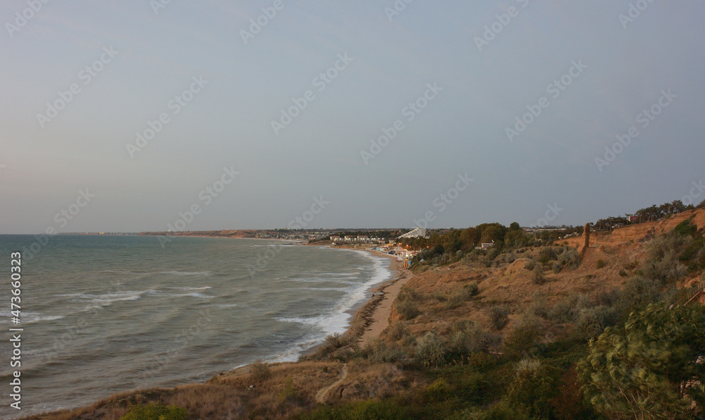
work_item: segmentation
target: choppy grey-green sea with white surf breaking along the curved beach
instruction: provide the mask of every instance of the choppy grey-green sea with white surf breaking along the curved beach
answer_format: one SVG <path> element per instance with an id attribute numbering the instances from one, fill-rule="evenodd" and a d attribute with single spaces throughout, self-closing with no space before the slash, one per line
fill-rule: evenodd
<path id="1" fill-rule="evenodd" d="M 295 361 L 345 332 L 368 290 L 391 277 L 388 260 L 364 251 L 168 239 L 0 235 L 0 418 L 203 382 L 256 359 Z"/>

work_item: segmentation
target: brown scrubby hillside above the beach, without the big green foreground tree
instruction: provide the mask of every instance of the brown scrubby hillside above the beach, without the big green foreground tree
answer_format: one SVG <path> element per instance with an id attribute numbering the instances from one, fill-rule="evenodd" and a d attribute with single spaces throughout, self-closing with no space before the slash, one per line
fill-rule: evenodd
<path id="1" fill-rule="evenodd" d="M 253 364 L 202 385 L 31 418 L 119 419 L 149 403 L 198 419 L 617 418 L 591 406 L 580 361 L 589 342 L 639 311 L 701 311 L 682 305 L 705 280 L 704 231 L 699 209 L 593 233 L 582 260 L 577 236 L 419 265 L 388 327 L 364 345 L 351 328 L 358 335 L 329 337 L 298 363 Z M 678 418 L 701 412 L 699 400 L 684 401 Z"/>

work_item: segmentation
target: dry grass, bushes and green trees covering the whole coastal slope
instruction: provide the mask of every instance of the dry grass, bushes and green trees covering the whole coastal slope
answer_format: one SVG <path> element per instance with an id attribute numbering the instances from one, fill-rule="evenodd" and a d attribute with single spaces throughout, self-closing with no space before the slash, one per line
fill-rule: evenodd
<path id="1" fill-rule="evenodd" d="M 330 335 L 300 363 L 216 376 L 198 385 L 220 396 L 215 411 L 190 387 L 116 397 L 105 417 L 142 413 L 146 398 L 192 418 L 221 418 L 226 405 L 230 418 L 703 418 L 705 307 L 690 298 L 705 283 L 705 241 L 694 220 L 583 261 L 575 239 L 515 223 L 410 240 L 427 271 L 402 288 L 379 338 Z M 494 249 L 474 249 L 487 240 Z"/>

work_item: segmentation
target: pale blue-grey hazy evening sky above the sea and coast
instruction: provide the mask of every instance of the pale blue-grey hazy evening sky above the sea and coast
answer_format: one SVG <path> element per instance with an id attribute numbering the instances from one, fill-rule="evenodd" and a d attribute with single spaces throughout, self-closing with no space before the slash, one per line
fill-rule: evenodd
<path id="1" fill-rule="evenodd" d="M 704 2 L 407 1 L 2 1 L 0 233 L 705 199 Z"/>

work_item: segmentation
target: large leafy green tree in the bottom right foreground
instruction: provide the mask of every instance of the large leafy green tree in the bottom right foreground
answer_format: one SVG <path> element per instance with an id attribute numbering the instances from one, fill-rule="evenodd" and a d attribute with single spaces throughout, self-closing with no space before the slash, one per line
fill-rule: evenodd
<path id="1" fill-rule="evenodd" d="M 705 307 L 650 304 L 607 328 L 578 364 L 585 395 L 610 419 L 689 419 L 705 403 Z"/>

